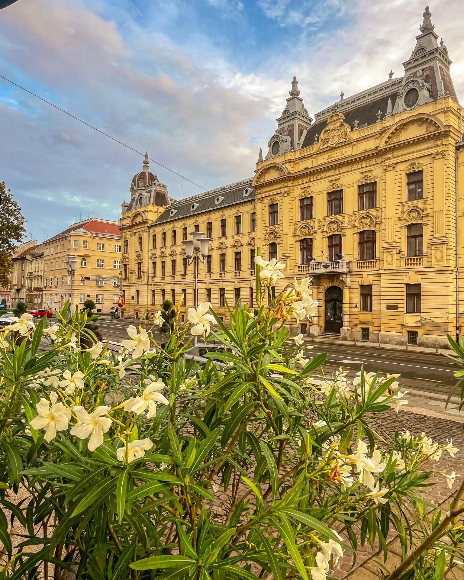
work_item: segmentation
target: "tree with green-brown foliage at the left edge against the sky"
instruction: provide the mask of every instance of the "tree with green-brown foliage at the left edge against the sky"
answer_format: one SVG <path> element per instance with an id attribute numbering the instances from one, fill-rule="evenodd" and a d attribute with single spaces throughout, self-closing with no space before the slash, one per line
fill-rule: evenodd
<path id="1" fill-rule="evenodd" d="M 10 274 L 13 271 L 11 254 L 26 233 L 26 220 L 19 204 L 13 200 L 5 182 L 0 182 L 0 286 L 9 288 Z"/>

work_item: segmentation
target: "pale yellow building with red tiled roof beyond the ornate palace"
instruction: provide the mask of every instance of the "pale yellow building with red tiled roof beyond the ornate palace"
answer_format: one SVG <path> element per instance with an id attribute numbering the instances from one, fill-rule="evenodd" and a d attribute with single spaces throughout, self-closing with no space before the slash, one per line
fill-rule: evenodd
<path id="1" fill-rule="evenodd" d="M 85 300 L 96 312 L 109 312 L 117 304 L 121 271 L 121 238 L 117 222 L 89 218 L 49 238 L 44 248 L 44 307 L 60 310 L 71 300 L 68 258 L 75 258 L 73 309 Z"/>

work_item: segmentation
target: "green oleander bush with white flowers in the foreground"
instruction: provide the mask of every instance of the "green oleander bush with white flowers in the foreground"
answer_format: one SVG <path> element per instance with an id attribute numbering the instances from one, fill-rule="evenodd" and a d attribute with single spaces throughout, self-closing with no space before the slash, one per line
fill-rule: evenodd
<path id="1" fill-rule="evenodd" d="M 443 511 L 423 499 L 458 450 L 376 434 L 407 403 L 398 376 L 325 375 L 285 327 L 313 316 L 310 280 L 264 305 L 282 269 L 258 256 L 258 305 L 227 327 L 209 303 L 185 324 L 175 307 L 163 347 L 161 312 L 120 352 L 67 307 L 0 331 L 0 579 L 325 580 L 393 532 L 392 579 L 462 565 L 462 489 Z M 219 344 L 205 363 L 193 335 Z"/>

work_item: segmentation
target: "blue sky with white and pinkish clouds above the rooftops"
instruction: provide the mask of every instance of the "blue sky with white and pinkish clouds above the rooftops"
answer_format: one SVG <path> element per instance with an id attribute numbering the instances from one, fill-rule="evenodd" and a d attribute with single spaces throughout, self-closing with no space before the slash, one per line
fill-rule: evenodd
<path id="1" fill-rule="evenodd" d="M 310 115 L 403 76 L 417 0 L 19 0 L 0 11 L 0 74 L 205 189 L 251 177 L 293 75 Z M 430 5 L 464 103 L 464 3 Z M 0 180 L 27 239 L 118 219 L 137 153 L 0 78 Z M 203 191 L 150 162 L 179 198 Z M 45 231 L 44 231 L 45 230 Z"/>

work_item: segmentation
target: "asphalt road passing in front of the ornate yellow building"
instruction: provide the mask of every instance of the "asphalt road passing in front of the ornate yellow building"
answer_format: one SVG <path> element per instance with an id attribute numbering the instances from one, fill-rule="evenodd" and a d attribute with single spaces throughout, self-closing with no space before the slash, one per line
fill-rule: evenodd
<path id="1" fill-rule="evenodd" d="M 126 329 L 130 324 L 136 324 L 136 321 L 124 318 L 114 320 L 109 316 L 102 316 L 99 320 L 104 338 L 115 342 L 128 338 Z M 327 362 L 324 365 L 325 374 L 331 375 L 339 367 L 343 367 L 353 378 L 361 367 L 364 367 L 366 372 L 380 371 L 385 375 L 400 374 L 400 385 L 407 389 L 430 393 L 449 394 L 452 385 L 456 382 L 453 375 L 460 368 L 444 354 L 423 353 L 414 350 L 414 347 L 406 351 L 340 345 L 336 342 L 309 344 L 313 348 L 305 350 L 306 358 L 318 353 L 328 353 Z M 458 394 L 457 391 L 456 394 Z"/>

